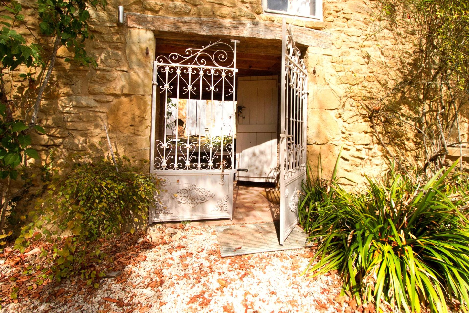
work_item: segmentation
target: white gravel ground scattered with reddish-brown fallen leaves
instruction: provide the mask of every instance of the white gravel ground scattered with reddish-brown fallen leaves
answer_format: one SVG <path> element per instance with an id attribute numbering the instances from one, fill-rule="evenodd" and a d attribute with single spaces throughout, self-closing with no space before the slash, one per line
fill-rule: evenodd
<path id="1" fill-rule="evenodd" d="M 213 228 L 189 227 L 180 234 L 144 252 L 146 259 L 130 264 L 122 275 L 102 279 L 98 290 L 62 282 L 55 290 L 67 291 L 59 298 L 25 300 L 0 312 L 354 311 L 338 297 L 336 275 L 301 276 L 310 249 L 221 258 Z M 4 267 L 0 270 L 8 270 Z"/>

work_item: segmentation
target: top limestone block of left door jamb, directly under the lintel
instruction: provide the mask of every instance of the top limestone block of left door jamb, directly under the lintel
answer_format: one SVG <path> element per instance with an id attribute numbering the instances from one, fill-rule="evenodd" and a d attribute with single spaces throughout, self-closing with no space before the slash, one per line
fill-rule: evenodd
<path id="1" fill-rule="evenodd" d="M 155 59 L 155 35 L 153 32 L 130 28 L 125 38 L 127 42 L 125 53 L 130 69 L 152 69 L 152 63 Z M 150 51 L 148 54 L 146 54 L 147 48 Z"/>

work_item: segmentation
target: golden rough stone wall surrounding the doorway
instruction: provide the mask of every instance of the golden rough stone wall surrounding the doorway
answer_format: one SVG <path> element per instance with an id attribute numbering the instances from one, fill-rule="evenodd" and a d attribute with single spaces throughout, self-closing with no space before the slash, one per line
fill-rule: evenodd
<path id="1" fill-rule="evenodd" d="M 364 181 L 364 174 L 378 176 L 386 169 L 382 149 L 373 139 L 369 121 L 360 114 L 359 103 L 346 101 L 350 88 L 375 81 L 362 56 L 363 48 L 373 49 L 362 45 L 370 24 L 369 4 L 324 0 L 324 21 L 287 19 L 287 23 L 333 34 L 331 51 L 309 47 L 305 56 L 310 74 L 308 157 L 314 165 L 320 152 L 327 175 L 343 147 L 340 175 L 357 183 Z M 149 159 L 155 38 L 150 30 L 117 25 L 118 5 L 126 12 L 148 15 L 281 23 L 280 16 L 263 13 L 261 0 L 109 0 L 105 11 L 91 12 L 95 38 L 87 47 L 98 67 L 73 67 L 63 60 L 70 55 L 68 50 L 59 51 L 54 86 L 40 112 L 47 135 L 34 138 L 42 151 L 54 147 L 63 153 L 85 151 L 106 142 L 103 124 L 108 123 L 120 154 L 137 162 Z M 28 25 L 37 32 L 33 13 L 26 8 Z M 27 35 L 27 30 L 23 33 Z"/>

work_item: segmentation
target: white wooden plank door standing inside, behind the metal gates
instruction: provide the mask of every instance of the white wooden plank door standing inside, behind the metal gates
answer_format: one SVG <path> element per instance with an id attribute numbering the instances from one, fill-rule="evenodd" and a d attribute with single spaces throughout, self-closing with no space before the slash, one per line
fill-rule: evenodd
<path id="1" fill-rule="evenodd" d="M 276 76 L 238 78 L 237 180 L 273 183 L 277 176 L 278 81 Z"/>

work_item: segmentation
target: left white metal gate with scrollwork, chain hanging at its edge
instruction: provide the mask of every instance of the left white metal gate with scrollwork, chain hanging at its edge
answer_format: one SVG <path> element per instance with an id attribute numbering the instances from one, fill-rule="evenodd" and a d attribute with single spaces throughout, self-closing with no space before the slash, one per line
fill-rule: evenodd
<path id="1" fill-rule="evenodd" d="M 232 42 L 160 55 L 153 64 L 150 165 L 163 191 L 150 209 L 151 222 L 232 218 Z"/>

